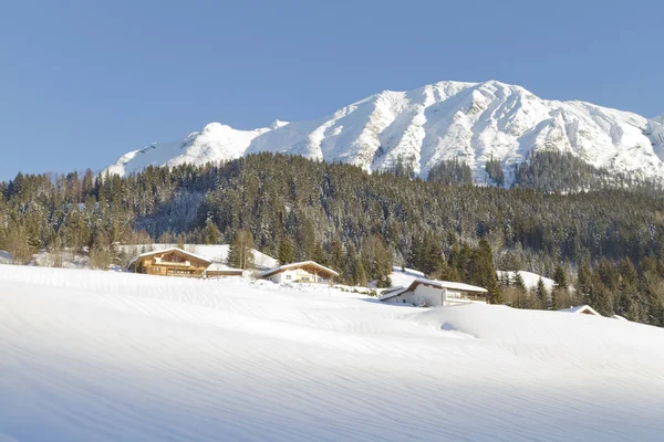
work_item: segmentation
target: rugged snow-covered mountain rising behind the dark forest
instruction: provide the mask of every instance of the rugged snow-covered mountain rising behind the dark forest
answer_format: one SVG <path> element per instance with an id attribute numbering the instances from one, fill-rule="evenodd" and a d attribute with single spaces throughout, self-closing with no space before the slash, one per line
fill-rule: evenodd
<path id="1" fill-rule="evenodd" d="M 664 116 L 647 119 L 584 102 L 542 99 L 496 81 L 440 82 L 385 91 L 314 120 L 277 120 L 253 130 L 210 123 L 180 140 L 131 151 L 107 170 L 127 175 L 149 165 L 201 165 L 273 151 L 367 171 L 401 159 L 422 177 L 439 161 L 457 158 L 483 178 L 491 157 L 509 166 L 531 150 L 557 150 L 613 171 L 662 178 L 663 146 Z"/>

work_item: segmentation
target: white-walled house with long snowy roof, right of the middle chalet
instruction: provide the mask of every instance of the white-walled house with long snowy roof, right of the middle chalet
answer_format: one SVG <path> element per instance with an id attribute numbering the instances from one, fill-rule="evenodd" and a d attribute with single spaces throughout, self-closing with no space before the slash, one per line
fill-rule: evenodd
<path id="1" fill-rule="evenodd" d="M 394 290 L 381 301 L 390 304 L 412 304 L 432 307 L 436 305 L 457 305 L 469 303 L 486 304 L 487 290 L 475 285 L 417 278 L 406 288 Z"/>

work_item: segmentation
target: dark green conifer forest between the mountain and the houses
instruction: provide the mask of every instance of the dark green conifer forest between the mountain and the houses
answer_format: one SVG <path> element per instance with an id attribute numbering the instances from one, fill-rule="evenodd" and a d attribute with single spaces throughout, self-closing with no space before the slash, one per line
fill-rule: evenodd
<path id="1" fill-rule="evenodd" d="M 0 249 L 19 263 L 40 249 L 86 251 L 104 267 L 131 259 L 115 244 L 230 243 L 234 263 L 251 267 L 242 251 L 253 243 L 283 263 L 329 265 L 350 284 L 390 285 L 392 265 L 408 266 L 485 286 L 497 303 L 553 308 L 588 301 L 604 314 L 664 325 L 658 188 L 592 181 L 588 191 L 563 194 L 523 181 L 512 189 L 465 186 L 465 178 L 455 186 L 445 177 L 465 177 L 464 166 L 440 168 L 447 171 L 425 181 L 400 168 L 369 175 L 351 165 L 259 154 L 221 165 L 149 167 L 126 178 L 19 173 L 0 183 Z M 517 282 L 500 284 L 495 269 L 548 277 L 562 271 L 571 295 L 519 297 Z"/>

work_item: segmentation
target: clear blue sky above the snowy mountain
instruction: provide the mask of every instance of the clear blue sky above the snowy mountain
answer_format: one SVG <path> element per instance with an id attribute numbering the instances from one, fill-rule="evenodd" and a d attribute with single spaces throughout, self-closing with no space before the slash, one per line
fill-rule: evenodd
<path id="1" fill-rule="evenodd" d="M 663 17 L 663 1 L 3 1 L 0 180 L 443 80 L 655 116 Z"/>

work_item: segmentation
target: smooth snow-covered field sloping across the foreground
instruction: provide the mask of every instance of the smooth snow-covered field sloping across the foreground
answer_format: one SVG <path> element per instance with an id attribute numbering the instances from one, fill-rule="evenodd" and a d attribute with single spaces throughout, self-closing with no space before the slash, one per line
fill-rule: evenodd
<path id="1" fill-rule="evenodd" d="M 0 266 L 0 441 L 661 441 L 664 330 Z"/>

